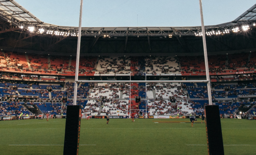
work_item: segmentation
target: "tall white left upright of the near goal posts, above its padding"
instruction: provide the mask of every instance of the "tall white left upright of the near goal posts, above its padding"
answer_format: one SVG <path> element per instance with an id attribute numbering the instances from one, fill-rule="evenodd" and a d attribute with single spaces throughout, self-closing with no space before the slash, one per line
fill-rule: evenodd
<path id="1" fill-rule="evenodd" d="M 83 0 L 80 1 L 80 15 L 79 15 L 77 50 L 76 50 L 76 72 L 75 72 L 73 105 L 76 105 L 77 88 L 78 88 L 77 81 L 78 81 L 78 72 L 79 72 L 78 70 L 79 70 L 80 45 L 81 45 L 82 14 L 83 14 Z"/>

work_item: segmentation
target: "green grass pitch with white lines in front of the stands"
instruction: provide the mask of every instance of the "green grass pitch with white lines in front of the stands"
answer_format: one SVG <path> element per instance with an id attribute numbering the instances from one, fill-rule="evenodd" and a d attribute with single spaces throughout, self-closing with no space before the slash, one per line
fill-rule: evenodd
<path id="1" fill-rule="evenodd" d="M 158 121 L 156 123 L 155 121 Z M 189 119 L 83 119 L 83 155 L 206 155 L 205 124 Z M 66 119 L 0 121 L 0 155 L 62 155 Z M 199 121 L 198 121 L 199 122 Z M 225 155 L 256 153 L 256 121 L 221 119 Z"/>

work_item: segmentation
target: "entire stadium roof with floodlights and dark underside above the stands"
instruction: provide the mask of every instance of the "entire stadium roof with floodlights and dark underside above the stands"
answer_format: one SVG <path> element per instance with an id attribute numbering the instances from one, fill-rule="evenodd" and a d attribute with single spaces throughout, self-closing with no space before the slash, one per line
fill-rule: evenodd
<path id="1" fill-rule="evenodd" d="M 208 52 L 256 49 L 255 8 L 256 4 L 234 21 L 205 26 Z M 201 52 L 201 33 L 201 26 L 83 27 L 81 52 Z M 78 27 L 44 23 L 14 0 L 0 0 L 1 47 L 76 53 L 77 36 Z"/>

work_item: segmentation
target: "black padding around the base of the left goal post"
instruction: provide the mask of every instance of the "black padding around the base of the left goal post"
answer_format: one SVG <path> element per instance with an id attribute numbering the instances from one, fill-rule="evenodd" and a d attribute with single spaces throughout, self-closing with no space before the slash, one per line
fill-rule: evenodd
<path id="1" fill-rule="evenodd" d="M 68 105 L 63 155 L 78 155 L 81 105 Z"/>

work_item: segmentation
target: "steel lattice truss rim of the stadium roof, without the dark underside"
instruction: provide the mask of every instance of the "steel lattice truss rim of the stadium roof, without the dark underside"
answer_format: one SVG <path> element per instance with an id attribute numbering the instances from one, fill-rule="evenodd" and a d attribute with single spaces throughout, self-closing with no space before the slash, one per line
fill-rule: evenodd
<path id="1" fill-rule="evenodd" d="M 0 20 L 9 21 L 15 26 L 35 26 L 37 29 L 47 31 L 59 31 L 69 34 L 77 34 L 78 27 L 58 26 L 42 22 L 35 15 L 20 6 L 15 0 L 0 0 Z M 244 14 L 240 15 L 235 21 L 218 25 L 205 26 L 206 31 L 230 30 L 241 24 L 253 26 L 256 21 L 256 4 Z M 35 30 L 37 30 L 35 28 Z M 201 26 L 188 27 L 109 27 L 109 28 L 82 28 L 82 36 L 187 36 L 201 33 Z M 54 33 L 50 33 L 54 34 Z M 76 35 L 74 35 L 76 36 Z"/>

